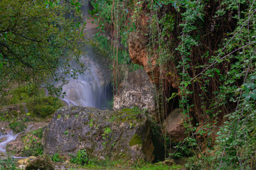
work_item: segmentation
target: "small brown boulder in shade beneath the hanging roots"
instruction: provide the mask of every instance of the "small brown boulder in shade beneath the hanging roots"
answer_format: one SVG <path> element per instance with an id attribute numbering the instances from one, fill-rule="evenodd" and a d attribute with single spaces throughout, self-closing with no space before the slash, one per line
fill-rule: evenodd
<path id="1" fill-rule="evenodd" d="M 183 114 L 181 108 L 176 108 L 164 120 L 164 131 L 174 142 L 181 142 L 186 137 L 186 129 L 183 127 Z"/>

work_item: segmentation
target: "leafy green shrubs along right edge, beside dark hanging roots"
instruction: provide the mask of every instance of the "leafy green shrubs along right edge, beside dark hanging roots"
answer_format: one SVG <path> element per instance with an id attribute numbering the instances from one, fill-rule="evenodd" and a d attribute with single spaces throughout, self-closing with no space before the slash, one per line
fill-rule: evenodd
<path id="1" fill-rule="evenodd" d="M 255 3 L 239 9 L 238 4 L 228 3 L 227 7 L 245 15 L 234 15 L 238 23 L 235 30 L 229 33 L 218 50 L 217 56 L 210 58 L 210 66 L 223 65 L 221 69 L 206 67 L 203 75 L 220 77 L 221 84 L 210 107 L 206 108 L 209 118 L 225 114 L 225 122 L 220 128 L 217 121 L 210 126 L 203 126 L 201 132 L 209 134 L 217 129 L 214 148 L 208 145 L 208 152 L 203 158 L 193 157 L 188 164 L 191 169 L 255 169 Z M 254 11 L 254 12 L 252 12 Z M 227 11 L 218 11 L 222 16 Z M 230 65 L 230 67 L 227 67 Z M 198 75 L 199 77 L 199 75 Z M 209 83 L 208 83 L 209 85 Z M 204 92 L 208 92 L 206 86 Z M 220 109 L 223 107 L 224 109 Z M 229 109 L 226 109 L 229 108 Z M 206 124 L 206 123 L 205 123 Z M 211 128 L 211 130 L 210 130 Z M 199 133 L 200 131 L 198 131 Z M 201 134 L 202 136 L 206 136 Z M 210 137 L 210 135 L 208 135 Z M 206 140 L 207 142 L 207 140 Z"/>

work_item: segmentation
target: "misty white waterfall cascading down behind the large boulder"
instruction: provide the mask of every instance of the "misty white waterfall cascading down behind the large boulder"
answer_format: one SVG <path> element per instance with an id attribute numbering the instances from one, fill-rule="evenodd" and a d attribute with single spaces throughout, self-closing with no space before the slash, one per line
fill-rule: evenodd
<path id="1" fill-rule="evenodd" d="M 89 30 L 96 27 L 92 20 L 88 18 L 88 8 L 88 2 L 85 0 L 82 10 L 84 11 L 87 34 L 90 33 Z M 89 35 L 89 37 L 92 36 Z M 63 86 L 63 92 L 66 94 L 63 101 L 74 106 L 107 108 L 107 101 L 112 98 L 110 81 L 106 79 L 109 70 L 102 67 L 102 61 L 97 58 L 98 55 L 95 55 L 93 47 L 84 45 L 82 50 L 85 51 L 85 55 L 80 58 L 80 62 L 85 64 L 87 70 L 83 74 L 78 74 L 78 79 L 68 78 L 68 84 Z M 77 62 L 70 62 L 70 66 L 73 69 L 79 69 Z"/>

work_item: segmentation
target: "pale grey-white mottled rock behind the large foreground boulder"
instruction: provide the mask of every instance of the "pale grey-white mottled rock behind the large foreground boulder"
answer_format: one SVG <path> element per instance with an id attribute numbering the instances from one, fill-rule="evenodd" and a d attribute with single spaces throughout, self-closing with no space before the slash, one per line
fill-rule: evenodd
<path id="1" fill-rule="evenodd" d="M 138 107 L 157 117 L 156 87 L 144 69 L 128 74 L 114 96 L 114 109 Z"/>

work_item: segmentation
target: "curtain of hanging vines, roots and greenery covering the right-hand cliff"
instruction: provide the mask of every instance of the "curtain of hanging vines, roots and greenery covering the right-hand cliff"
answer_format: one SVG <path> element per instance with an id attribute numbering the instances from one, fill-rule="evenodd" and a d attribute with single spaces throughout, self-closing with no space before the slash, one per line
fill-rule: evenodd
<path id="1" fill-rule="evenodd" d="M 188 142 L 193 150 L 188 169 L 255 169 L 255 1 L 92 5 L 114 40 L 127 47 L 136 33 L 147 57 L 157 58 L 159 114 L 177 100 L 183 108 L 188 138 L 177 147 Z"/>

